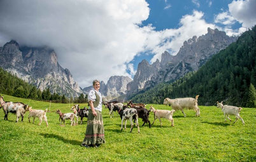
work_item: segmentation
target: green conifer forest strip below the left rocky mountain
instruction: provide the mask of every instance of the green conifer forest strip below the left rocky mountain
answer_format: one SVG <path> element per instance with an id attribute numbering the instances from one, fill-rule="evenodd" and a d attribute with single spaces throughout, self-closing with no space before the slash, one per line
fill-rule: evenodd
<path id="1" fill-rule="evenodd" d="M 50 88 L 41 91 L 36 86 L 25 82 L 10 72 L 4 71 L 0 67 L 0 92 L 21 98 L 31 98 L 33 100 L 45 100 L 57 103 L 86 103 L 87 95 L 80 94 L 77 98 L 68 98 L 65 95 L 51 93 Z"/>

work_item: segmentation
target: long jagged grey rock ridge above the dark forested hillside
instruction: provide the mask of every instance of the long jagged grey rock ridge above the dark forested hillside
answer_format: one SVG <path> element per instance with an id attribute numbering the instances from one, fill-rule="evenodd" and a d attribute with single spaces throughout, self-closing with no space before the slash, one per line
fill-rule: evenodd
<path id="1" fill-rule="evenodd" d="M 143 60 L 138 65 L 133 81 L 127 85 L 128 95 L 162 82 L 175 81 L 188 72 L 197 71 L 213 55 L 236 39 L 237 37 L 229 37 L 218 29 L 208 28 L 207 34 L 185 41 L 175 56 L 165 51 L 160 62 L 156 60 L 150 65 Z"/>

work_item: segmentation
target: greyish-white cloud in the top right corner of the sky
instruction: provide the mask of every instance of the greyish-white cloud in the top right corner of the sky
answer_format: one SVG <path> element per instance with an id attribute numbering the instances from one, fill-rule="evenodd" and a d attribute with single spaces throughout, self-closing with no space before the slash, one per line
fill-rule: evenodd
<path id="1" fill-rule="evenodd" d="M 229 12 L 243 27 L 251 28 L 256 25 L 256 1 L 232 1 Z"/>

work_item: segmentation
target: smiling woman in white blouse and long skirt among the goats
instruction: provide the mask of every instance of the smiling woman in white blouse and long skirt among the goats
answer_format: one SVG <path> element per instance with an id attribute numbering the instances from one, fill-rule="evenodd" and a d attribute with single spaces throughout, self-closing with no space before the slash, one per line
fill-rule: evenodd
<path id="1" fill-rule="evenodd" d="M 99 92 L 100 84 L 97 80 L 94 80 L 92 84 L 94 89 L 90 90 L 88 95 L 90 107 L 85 138 L 81 144 L 83 147 L 99 147 L 99 145 L 105 143 L 103 116 L 101 114 L 102 97 Z"/>

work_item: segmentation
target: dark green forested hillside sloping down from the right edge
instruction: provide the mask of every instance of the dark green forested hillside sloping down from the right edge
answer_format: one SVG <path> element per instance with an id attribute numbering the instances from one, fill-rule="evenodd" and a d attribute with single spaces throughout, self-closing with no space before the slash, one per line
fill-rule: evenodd
<path id="1" fill-rule="evenodd" d="M 253 107 L 248 101 L 256 100 L 255 62 L 256 26 L 214 55 L 199 71 L 190 73 L 175 83 L 158 84 L 130 99 L 134 102 L 159 104 L 166 97 L 200 95 L 201 105 L 215 105 L 217 100 L 224 100 L 225 104 Z"/>

